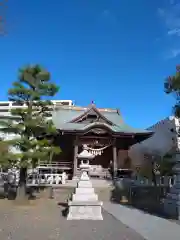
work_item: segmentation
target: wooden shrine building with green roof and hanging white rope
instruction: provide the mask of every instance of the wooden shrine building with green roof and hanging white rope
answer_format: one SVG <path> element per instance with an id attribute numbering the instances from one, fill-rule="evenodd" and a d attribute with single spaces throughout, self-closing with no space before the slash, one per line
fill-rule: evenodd
<path id="1" fill-rule="evenodd" d="M 127 152 L 130 146 L 153 134 L 152 131 L 128 126 L 118 109 L 97 108 L 95 104 L 87 107 L 57 107 L 53 111 L 52 120 L 58 130 L 55 144 L 62 149 L 53 160 L 73 176 L 78 175 L 80 163 L 77 156 L 83 146 L 95 155 L 90 165 L 107 169 L 111 162 L 116 172 L 117 168 L 125 164 L 120 153 Z M 131 165 L 128 163 L 128 167 Z"/>

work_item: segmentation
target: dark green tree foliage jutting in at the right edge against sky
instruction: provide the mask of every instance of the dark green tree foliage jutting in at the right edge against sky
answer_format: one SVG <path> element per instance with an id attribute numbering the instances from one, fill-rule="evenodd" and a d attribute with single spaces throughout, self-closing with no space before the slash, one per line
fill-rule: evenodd
<path id="1" fill-rule="evenodd" d="M 175 116 L 180 117 L 180 65 L 176 67 L 174 75 L 165 79 L 164 90 L 167 94 L 173 94 L 175 96 L 175 105 L 173 112 Z"/>

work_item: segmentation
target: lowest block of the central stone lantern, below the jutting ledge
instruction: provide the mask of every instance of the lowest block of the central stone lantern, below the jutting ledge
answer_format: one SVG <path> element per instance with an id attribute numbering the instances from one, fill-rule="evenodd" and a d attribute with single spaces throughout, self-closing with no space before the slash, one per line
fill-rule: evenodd
<path id="1" fill-rule="evenodd" d="M 103 220 L 101 206 L 70 206 L 67 220 Z"/>

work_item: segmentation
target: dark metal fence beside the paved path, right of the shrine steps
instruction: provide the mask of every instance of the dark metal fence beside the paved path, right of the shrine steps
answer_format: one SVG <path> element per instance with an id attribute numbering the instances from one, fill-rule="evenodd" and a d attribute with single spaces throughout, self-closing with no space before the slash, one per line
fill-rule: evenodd
<path id="1" fill-rule="evenodd" d="M 111 201 L 164 216 L 163 200 L 175 182 L 175 176 L 159 177 L 156 184 L 145 178 L 117 179 Z"/>

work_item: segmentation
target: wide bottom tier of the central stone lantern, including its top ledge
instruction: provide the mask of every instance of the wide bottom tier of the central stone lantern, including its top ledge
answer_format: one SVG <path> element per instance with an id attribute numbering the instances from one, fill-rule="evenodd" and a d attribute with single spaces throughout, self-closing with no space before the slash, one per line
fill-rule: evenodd
<path id="1" fill-rule="evenodd" d="M 69 202 L 67 220 L 103 220 L 102 202 Z"/>

